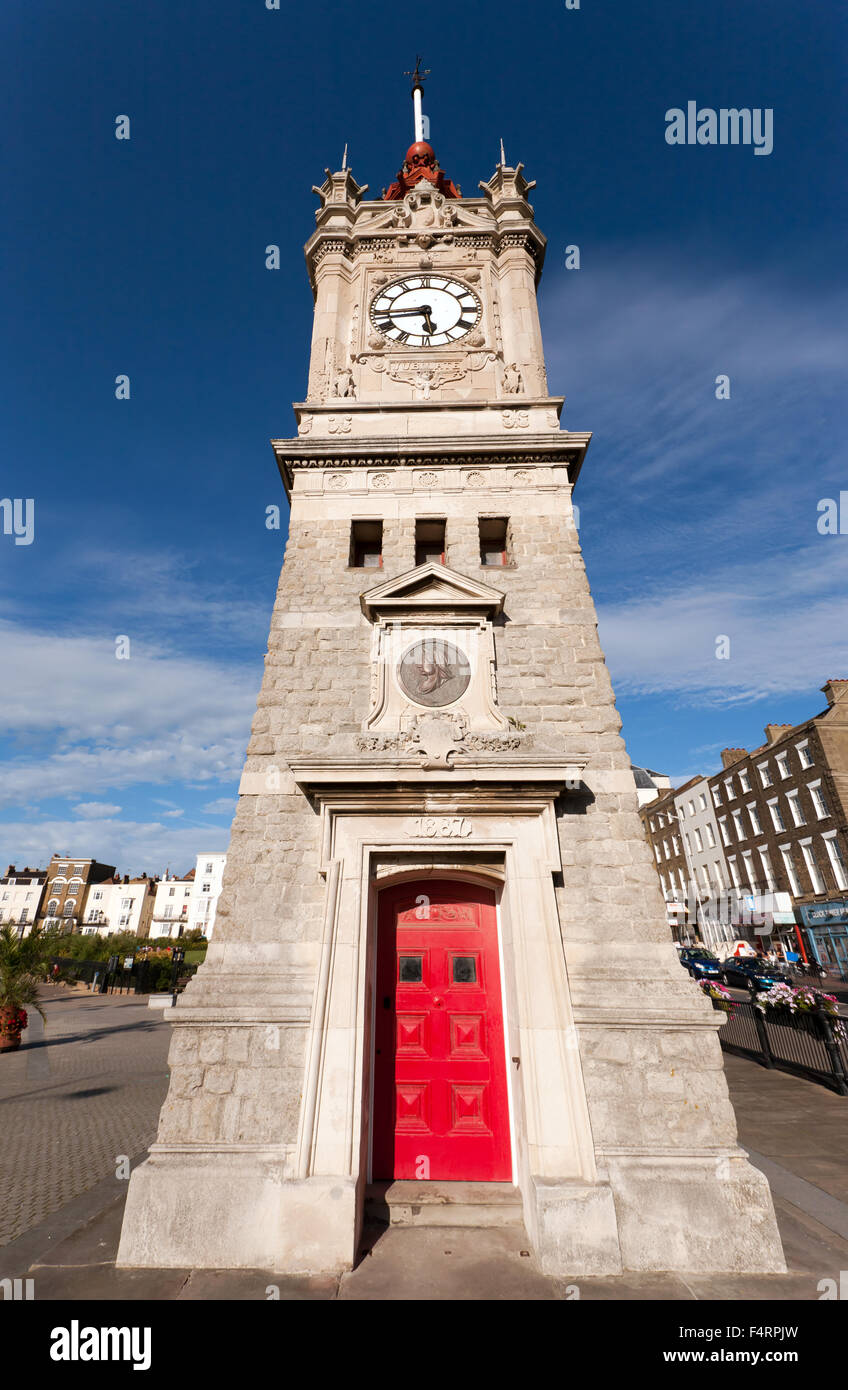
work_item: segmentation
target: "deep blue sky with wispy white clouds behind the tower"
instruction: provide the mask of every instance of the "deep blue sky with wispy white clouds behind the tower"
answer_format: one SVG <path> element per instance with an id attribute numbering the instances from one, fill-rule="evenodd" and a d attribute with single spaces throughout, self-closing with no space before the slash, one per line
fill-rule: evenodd
<path id="1" fill-rule="evenodd" d="M 576 500 L 634 762 L 713 770 L 848 676 L 848 498 L 845 535 L 816 528 L 848 489 L 841 4 L 6 0 L 0 38 L 0 495 L 36 506 L 32 545 L 0 534 L 3 863 L 185 872 L 227 847 L 310 189 L 346 142 L 360 182 L 392 181 L 416 51 L 450 177 L 474 193 L 503 138 L 538 181 L 549 381 L 595 435 Z M 688 100 L 773 108 L 773 153 L 669 146 Z"/>

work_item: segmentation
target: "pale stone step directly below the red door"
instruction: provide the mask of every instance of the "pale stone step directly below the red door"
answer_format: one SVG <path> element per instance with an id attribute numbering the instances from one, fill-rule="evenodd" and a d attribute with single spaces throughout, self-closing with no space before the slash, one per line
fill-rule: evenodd
<path id="1" fill-rule="evenodd" d="M 389 1226 L 523 1226 L 512 1183 L 371 1183 L 366 1216 Z"/>

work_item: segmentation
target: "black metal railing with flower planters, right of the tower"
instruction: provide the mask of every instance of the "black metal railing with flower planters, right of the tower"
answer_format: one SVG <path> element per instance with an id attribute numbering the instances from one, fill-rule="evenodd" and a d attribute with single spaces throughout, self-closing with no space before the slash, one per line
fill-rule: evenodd
<path id="1" fill-rule="evenodd" d="M 726 1012 L 713 999 L 713 1008 Z M 726 1052 L 753 1058 L 767 1069 L 794 1072 L 848 1095 L 848 1040 L 845 1024 L 823 1009 L 758 1009 L 734 1004 L 719 1031 Z"/>

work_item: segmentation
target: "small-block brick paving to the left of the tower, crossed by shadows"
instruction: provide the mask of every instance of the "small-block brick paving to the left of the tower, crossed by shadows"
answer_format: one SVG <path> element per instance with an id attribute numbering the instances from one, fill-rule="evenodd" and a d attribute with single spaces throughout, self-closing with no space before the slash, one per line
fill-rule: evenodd
<path id="1" fill-rule="evenodd" d="M 146 997 L 49 986 L 42 1006 L 0 1055 L 0 1247 L 146 1150 L 168 1087 L 171 1027 Z"/>

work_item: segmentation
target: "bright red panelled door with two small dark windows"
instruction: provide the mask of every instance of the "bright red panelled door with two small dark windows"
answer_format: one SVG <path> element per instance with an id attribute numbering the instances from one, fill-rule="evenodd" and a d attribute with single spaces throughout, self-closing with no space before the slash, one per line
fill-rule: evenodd
<path id="1" fill-rule="evenodd" d="M 494 892 L 384 890 L 374 1048 L 375 1179 L 512 1179 Z"/>

